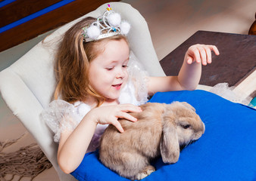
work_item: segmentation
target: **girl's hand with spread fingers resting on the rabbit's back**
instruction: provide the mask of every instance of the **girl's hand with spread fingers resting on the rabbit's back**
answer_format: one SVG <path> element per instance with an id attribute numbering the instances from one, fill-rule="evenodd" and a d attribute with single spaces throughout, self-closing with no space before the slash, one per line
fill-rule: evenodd
<path id="1" fill-rule="evenodd" d="M 137 121 L 137 118 L 134 118 L 127 112 L 142 112 L 142 109 L 133 104 L 120 104 L 97 107 L 88 112 L 88 114 L 92 116 L 91 118 L 95 120 L 97 124 L 113 124 L 120 133 L 123 133 L 123 127 L 118 121 L 118 118 L 126 118 L 133 122 Z"/>

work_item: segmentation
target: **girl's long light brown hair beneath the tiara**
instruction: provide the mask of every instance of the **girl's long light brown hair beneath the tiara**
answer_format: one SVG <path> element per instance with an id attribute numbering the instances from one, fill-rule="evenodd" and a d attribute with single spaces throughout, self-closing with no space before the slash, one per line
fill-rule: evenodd
<path id="1" fill-rule="evenodd" d="M 61 97 L 68 103 L 85 101 L 89 95 L 95 97 L 98 106 L 104 97 L 97 93 L 89 83 L 89 63 L 104 51 L 109 40 L 128 41 L 123 35 L 115 35 L 98 41 L 83 42 L 83 27 L 95 22 L 95 18 L 86 17 L 65 32 L 55 57 L 55 76 L 57 87 L 55 100 Z"/>

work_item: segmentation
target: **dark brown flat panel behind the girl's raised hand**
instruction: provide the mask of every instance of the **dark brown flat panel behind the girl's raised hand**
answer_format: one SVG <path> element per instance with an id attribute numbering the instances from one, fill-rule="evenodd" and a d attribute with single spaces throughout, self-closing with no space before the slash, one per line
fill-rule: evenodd
<path id="1" fill-rule="evenodd" d="M 233 86 L 256 66 L 255 35 L 198 31 L 160 61 L 166 75 L 178 75 L 192 44 L 214 44 L 220 51 L 219 56 L 213 53 L 211 64 L 202 66 L 200 84 L 214 86 L 227 82 Z"/>

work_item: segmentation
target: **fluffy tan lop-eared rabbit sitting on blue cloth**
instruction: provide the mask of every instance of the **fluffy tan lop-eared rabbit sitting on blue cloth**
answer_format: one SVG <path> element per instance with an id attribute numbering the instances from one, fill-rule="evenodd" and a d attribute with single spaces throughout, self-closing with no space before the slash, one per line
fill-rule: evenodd
<path id="1" fill-rule="evenodd" d="M 99 146 L 100 161 L 120 176 L 133 180 L 154 172 L 150 161 L 160 155 L 164 163 L 176 163 L 180 146 L 198 140 L 205 130 L 189 103 L 146 103 L 140 107 L 142 112 L 130 112 L 138 121 L 120 118 L 123 133 L 108 125 Z"/>

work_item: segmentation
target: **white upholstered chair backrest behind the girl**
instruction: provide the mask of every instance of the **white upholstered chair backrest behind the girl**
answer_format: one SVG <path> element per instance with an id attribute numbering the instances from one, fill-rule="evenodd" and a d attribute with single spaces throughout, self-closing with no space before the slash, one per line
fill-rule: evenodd
<path id="1" fill-rule="evenodd" d="M 121 14 L 124 20 L 132 25 L 128 39 L 130 48 L 145 66 L 149 75 L 164 75 L 158 57 L 151 42 L 151 36 L 145 19 L 139 11 L 122 2 L 110 3 L 114 11 Z M 36 139 L 49 161 L 52 162 L 61 180 L 72 180 L 58 167 L 58 144 L 53 142 L 53 133 L 39 115 L 45 106 L 52 101 L 55 90 L 54 54 L 61 35 L 70 26 L 84 17 L 99 17 L 106 11 L 107 4 L 95 11 L 73 20 L 53 32 L 44 43 L 39 42 L 13 65 L 0 72 L 0 90 L 2 98 L 14 115 L 19 118 L 27 130 Z"/>

